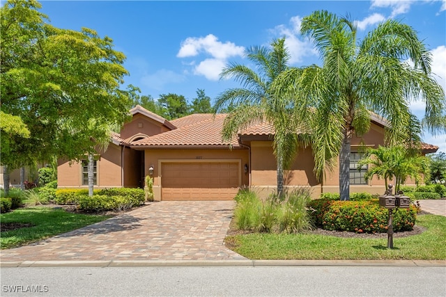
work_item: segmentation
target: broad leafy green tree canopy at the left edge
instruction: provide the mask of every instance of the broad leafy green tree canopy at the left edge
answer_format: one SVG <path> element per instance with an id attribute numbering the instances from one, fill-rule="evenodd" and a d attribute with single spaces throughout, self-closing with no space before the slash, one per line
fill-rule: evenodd
<path id="1" fill-rule="evenodd" d="M 1 7 L 1 163 L 11 169 L 93 152 L 104 131 L 89 121 L 121 124 L 131 106 L 120 89 L 125 56 L 113 40 L 91 29 L 58 29 L 40 8 L 34 0 Z M 24 133 L 5 133 L 13 129 L 10 117 Z"/>

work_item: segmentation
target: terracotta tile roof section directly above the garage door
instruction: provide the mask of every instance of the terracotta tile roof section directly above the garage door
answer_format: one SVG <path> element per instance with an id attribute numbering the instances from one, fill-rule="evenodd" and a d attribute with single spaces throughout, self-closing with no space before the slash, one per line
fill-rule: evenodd
<path id="1" fill-rule="evenodd" d="M 222 142 L 224 118 L 226 118 L 226 114 L 199 113 L 187 115 L 184 118 L 172 121 L 172 124 L 178 127 L 177 129 L 135 141 L 132 146 L 233 145 L 233 147 L 238 147 L 236 137 L 231 142 Z"/>

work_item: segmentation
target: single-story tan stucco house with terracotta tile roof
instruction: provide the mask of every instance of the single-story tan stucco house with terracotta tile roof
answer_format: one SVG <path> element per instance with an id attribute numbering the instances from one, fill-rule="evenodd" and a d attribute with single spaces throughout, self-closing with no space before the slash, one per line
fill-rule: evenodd
<path id="1" fill-rule="evenodd" d="M 263 195 L 276 188 L 276 161 L 272 154 L 273 129 L 253 125 L 231 142 L 223 143 L 221 131 L 226 114 L 199 113 L 168 121 L 141 106 L 130 110 L 132 120 L 120 134 L 112 134 L 106 152 L 95 158 L 95 187 L 143 187 L 153 177 L 155 200 L 229 200 L 238 189 L 251 186 Z M 383 193 L 384 181 L 364 181 L 357 170 L 361 145 L 383 145 L 385 122 L 374 117 L 370 131 L 351 141 L 351 192 Z M 423 153 L 436 152 L 434 145 Z M 311 148 L 300 149 L 284 174 L 289 187 L 309 186 L 312 196 L 339 191 L 338 168 L 327 172 L 323 183 L 313 173 Z M 59 160 L 59 188 L 88 187 L 86 161 Z"/>

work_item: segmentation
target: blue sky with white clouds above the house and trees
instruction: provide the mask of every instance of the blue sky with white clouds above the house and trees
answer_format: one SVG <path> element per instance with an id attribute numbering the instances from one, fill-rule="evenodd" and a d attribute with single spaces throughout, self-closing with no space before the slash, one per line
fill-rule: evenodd
<path id="1" fill-rule="evenodd" d="M 385 19 L 413 26 L 433 54 L 433 72 L 446 89 L 446 0 L 442 1 L 41 1 L 53 26 L 94 29 L 114 40 L 127 59 L 125 85 L 154 98 L 176 93 L 192 100 L 197 89 L 214 99 L 238 86 L 219 79 L 226 63 L 249 65 L 243 51 L 286 37 L 291 65 L 319 63 L 300 20 L 329 10 L 357 21 L 358 38 Z M 413 112 L 424 113 L 422 104 Z M 424 141 L 446 152 L 446 134 Z"/>

